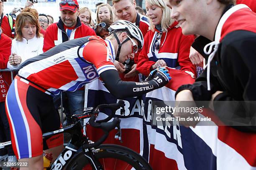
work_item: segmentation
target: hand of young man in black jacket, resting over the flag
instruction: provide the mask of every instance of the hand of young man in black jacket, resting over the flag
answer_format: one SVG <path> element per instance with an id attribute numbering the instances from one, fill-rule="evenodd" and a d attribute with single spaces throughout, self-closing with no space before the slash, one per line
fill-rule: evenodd
<path id="1" fill-rule="evenodd" d="M 196 107 L 192 92 L 190 90 L 182 90 L 176 95 L 176 102 L 175 106 L 178 107 Z M 187 102 L 186 102 L 187 101 Z M 179 109 L 182 110 L 182 109 Z M 179 121 L 180 124 L 184 125 L 185 127 L 192 126 L 195 128 L 195 125 L 197 125 L 198 121 L 195 120 L 195 117 L 198 116 L 198 113 L 195 112 L 194 114 L 191 114 L 190 112 L 174 112 L 174 117 L 182 117 L 185 118 L 185 121 Z M 192 117 L 192 121 L 188 121 L 187 118 Z M 179 120 L 179 119 L 178 119 Z"/>

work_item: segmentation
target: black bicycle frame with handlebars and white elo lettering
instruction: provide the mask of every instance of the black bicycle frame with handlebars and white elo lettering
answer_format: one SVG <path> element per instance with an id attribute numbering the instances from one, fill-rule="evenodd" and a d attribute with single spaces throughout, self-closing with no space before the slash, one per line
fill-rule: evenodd
<path id="1" fill-rule="evenodd" d="M 93 109 L 92 107 L 86 108 L 84 110 L 85 113 L 81 115 L 74 115 L 74 124 L 61 128 L 59 130 L 44 133 L 42 135 L 43 138 L 51 137 L 53 135 L 57 135 L 64 132 L 72 135 L 67 146 L 65 146 L 64 150 L 62 150 L 58 158 L 56 158 L 56 160 L 54 160 L 54 162 L 51 163 L 47 170 L 61 170 L 65 165 L 69 163 L 69 161 L 72 160 L 70 158 L 74 157 L 76 153 L 80 153 L 80 151 L 82 150 L 84 152 L 84 155 L 90 161 L 91 165 L 93 165 L 96 170 L 101 170 L 101 164 L 94 157 L 94 153 L 97 152 L 97 149 L 95 149 L 94 147 L 103 143 L 104 140 L 108 137 L 108 133 L 115 127 L 118 127 L 118 130 L 120 130 L 120 120 L 117 117 L 115 117 L 112 122 L 107 121 L 113 118 L 113 116 L 115 115 L 115 111 L 118 108 L 121 107 L 121 109 L 124 112 L 123 106 L 124 102 L 120 100 L 118 103 L 115 104 L 99 105 L 96 109 Z M 110 115 L 104 120 L 99 120 L 95 122 L 96 116 L 101 108 L 109 108 L 110 110 L 112 110 L 112 115 Z M 92 125 L 92 127 L 101 128 L 105 133 L 100 138 L 100 140 L 97 140 L 95 143 L 90 141 L 89 138 L 87 138 L 87 136 L 84 136 L 82 133 L 83 128 L 79 120 L 87 117 L 90 117 L 89 124 Z M 118 132 L 118 134 L 120 134 L 120 131 Z M 120 135 L 118 135 L 118 138 L 120 139 Z M 0 149 L 10 147 L 10 145 L 11 141 L 0 143 Z"/>

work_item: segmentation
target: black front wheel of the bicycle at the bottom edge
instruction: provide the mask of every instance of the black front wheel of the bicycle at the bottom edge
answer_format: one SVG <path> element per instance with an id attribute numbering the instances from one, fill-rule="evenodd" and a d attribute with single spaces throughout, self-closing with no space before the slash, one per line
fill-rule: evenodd
<path id="1" fill-rule="evenodd" d="M 95 159 L 102 166 L 102 170 L 152 170 L 148 162 L 133 150 L 120 146 L 103 144 L 97 147 L 99 152 L 95 153 Z M 83 151 L 78 153 L 68 165 L 66 170 L 95 170 L 90 164 Z"/>

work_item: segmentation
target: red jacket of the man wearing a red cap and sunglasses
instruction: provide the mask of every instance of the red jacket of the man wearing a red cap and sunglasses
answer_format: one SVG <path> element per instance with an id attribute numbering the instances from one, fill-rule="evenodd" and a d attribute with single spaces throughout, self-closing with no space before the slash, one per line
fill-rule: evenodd
<path id="1" fill-rule="evenodd" d="M 90 35 L 96 35 L 95 31 L 84 23 L 81 23 L 77 17 L 77 25 L 74 30 L 72 30 L 69 38 L 66 30 L 64 30 L 64 23 L 59 19 L 58 23 L 53 23 L 46 29 L 43 51 L 46 52 L 62 42 Z"/>

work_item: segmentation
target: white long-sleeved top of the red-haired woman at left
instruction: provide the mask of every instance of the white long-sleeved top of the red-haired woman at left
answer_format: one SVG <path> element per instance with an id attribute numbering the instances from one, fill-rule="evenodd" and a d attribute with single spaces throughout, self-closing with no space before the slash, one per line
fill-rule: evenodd
<path id="1" fill-rule="evenodd" d="M 28 60 L 29 58 L 35 57 L 43 53 L 44 38 L 37 38 L 34 36 L 31 40 L 23 38 L 22 42 L 17 41 L 16 38 L 12 40 L 11 53 L 16 53 L 21 57 L 21 63 Z M 15 69 L 17 66 L 10 65 L 7 63 L 7 68 Z"/>

